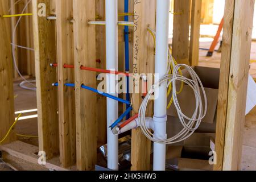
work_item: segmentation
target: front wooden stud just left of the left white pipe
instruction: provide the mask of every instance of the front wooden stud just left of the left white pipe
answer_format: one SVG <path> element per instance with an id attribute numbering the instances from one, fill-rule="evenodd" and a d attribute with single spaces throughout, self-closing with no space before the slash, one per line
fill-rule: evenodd
<path id="1" fill-rule="evenodd" d="M 97 161 L 96 94 L 81 88 L 96 88 L 96 73 L 80 67 L 96 67 L 95 1 L 74 0 L 75 83 L 76 83 L 76 149 L 77 169 L 94 169 Z"/>

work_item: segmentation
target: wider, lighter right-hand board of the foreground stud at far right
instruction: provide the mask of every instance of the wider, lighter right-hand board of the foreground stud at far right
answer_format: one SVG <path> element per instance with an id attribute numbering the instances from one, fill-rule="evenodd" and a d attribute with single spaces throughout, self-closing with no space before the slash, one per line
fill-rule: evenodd
<path id="1" fill-rule="evenodd" d="M 240 170 L 254 0 L 235 1 L 223 170 Z M 246 11 L 245 11 L 246 10 Z"/>

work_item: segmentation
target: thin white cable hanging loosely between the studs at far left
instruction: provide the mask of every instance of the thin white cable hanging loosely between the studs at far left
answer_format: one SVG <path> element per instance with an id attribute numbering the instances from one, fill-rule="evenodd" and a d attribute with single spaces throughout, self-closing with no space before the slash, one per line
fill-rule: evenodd
<path id="1" fill-rule="evenodd" d="M 24 9 L 22 10 L 22 13 L 21 13 L 21 14 L 23 14 L 24 11 L 26 11 L 27 6 L 30 4 L 31 1 L 32 1 L 32 0 L 30 0 L 30 1 L 28 1 L 28 2 L 26 3 L 26 5 L 24 6 Z M 17 2 L 16 2 L 16 3 L 17 3 Z M 14 30 L 13 30 L 13 35 L 12 35 L 12 43 L 11 43 L 11 45 L 12 45 L 12 53 L 13 53 L 14 67 L 15 67 L 16 71 L 18 72 L 18 75 L 24 80 L 24 82 L 26 82 L 27 84 L 30 84 L 30 85 L 32 85 L 32 86 L 35 87 L 36 85 L 31 83 L 31 82 L 35 82 L 35 80 L 32 80 L 32 81 L 26 80 L 26 78 L 24 78 L 24 77 L 22 76 L 22 74 L 20 73 L 19 68 L 18 68 L 18 66 L 17 66 L 17 64 L 16 64 L 16 58 L 15 58 L 15 46 L 16 46 L 16 44 L 15 44 L 15 41 L 14 41 L 14 40 L 15 40 L 15 32 L 16 32 L 16 29 L 17 29 L 17 27 L 18 27 L 19 22 L 20 22 L 21 19 L 22 19 L 22 16 L 20 16 L 19 19 L 18 19 L 18 21 L 16 22 L 16 25 L 15 25 Z M 28 89 L 28 90 L 36 90 L 36 88 L 28 88 L 27 86 L 24 86 L 24 82 L 21 82 L 21 83 L 19 84 L 19 86 L 22 87 L 22 88 L 24 88 L 24 89 Z"/>

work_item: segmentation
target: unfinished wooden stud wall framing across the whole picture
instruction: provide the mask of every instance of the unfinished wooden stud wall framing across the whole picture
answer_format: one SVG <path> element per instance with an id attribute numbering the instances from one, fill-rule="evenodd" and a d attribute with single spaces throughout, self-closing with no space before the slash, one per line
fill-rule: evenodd
<path id="1" fill-rule="evenodd" d="M 214 170 L 240 169 L 254 2 L 226 0 L 215 143 L 217 164 Z M 156 1 L 129 3 L 130 11 L 133 11 L 130 19 L 134 22 L 134 27 L 126 32 L 130 38 L 130 64 L 133 65 L 130 73 L 154 73 L 155 47 L 148 27 L 156 28 Z M 13 4 L 14 1 L 10 0 L 10 5 Z M 39 16 L 38 12 L 44 9 L 44 5 L 46 14 Z M 172 53 L 179 63 L 198 64 L 201 6 L 201 0 L 175 0 Z M 11 55 L 10 32 L 15 27 L 15 20 L 3 18 L 9 14 L 8 9 L 9 2 L 1 1 L 0 35 L 3 40 L 0 55 L 4 56 L 0 56 L 0 87 L 3 88 L 0 90 L 0 139 L 5 137 L 14 122 L 12 83 L 13 75 L 18 77 L 13 72 Z M 105 21 L 105 1 L 32 0 L 28 10 L 33 14 L 34 36 L 17 42 L 26 42 L 35 49 L 35 55 L 26 52 L 31 60 L 26 69 L 27 75 L 36 76 L 39 147 L 15 141 L 13 132 L 0 148 L 32 163 L 38 162 L 35 151 L 44 151 L 46 166 L 56 170 L 93 170 L 97 164 L 97 148 L 107 141 L 106 98 L 82 88 L 82 85 L 97 88 L 97 74 L 81 67 L 106 68 L 105 26 L 88 23 Z M 16 11 L 11 11 L 11 14 Z M 23 23 L 30 24 L 30 19 L 24 19 Z M 118 42 L 124 42 L 123 28 L 118 32 Z M 20 34 L 28 36 L 31 30 Z M 14 51 L 18 52 L 17 49 Z M 121 62 L 121 71 L 125 71 L 124 61 Z M 138 113 L 142 98 L 142 94 L 134 94 L 133 114 Z M 151 103 L 148 115 L 152 115 L 152 109 Z M 131 170 L 150 170 L 150 140 L 140 129 L 134 129 L 131 137 Z M 12 144 L 31 148 L 31 152 L 22 154 L 15 151 Z"/>

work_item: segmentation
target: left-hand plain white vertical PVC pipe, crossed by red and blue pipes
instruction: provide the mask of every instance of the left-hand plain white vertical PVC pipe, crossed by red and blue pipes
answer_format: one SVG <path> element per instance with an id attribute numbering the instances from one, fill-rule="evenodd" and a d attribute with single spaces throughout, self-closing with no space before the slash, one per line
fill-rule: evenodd
<path id="1" fill-rule="evenodd" d="M 118 69 L 118 7 L 117 0 L 106 0 L 106 69 Z M 115 93 L 115 75 L 108 74 L 107 92 L 118 97 Z M 108 127 L 118 118 L 118 102 L 107 98 Z M 118 136 L 108 128 L 108 168 L 118 170 Z"/>

